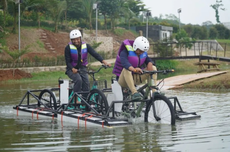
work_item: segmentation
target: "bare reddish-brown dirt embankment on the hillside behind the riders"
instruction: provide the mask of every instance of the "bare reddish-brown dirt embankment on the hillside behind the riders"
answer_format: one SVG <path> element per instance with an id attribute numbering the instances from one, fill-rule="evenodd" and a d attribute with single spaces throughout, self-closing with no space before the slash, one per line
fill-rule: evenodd
<path id="1" fill-rule="evenodd" d="M 91 32 L 92 33 L 92 32 Z M 88 36 L 95 36 L 95 34 L 87 34 Z M 84 36 L 84 34 L 83 34 Z M 119 49 L 120 44 L 125 39 L 135 39 L 132 32 L 127 31 L 122 36 L 117 36 L 109 31 L 98 31 L 98 36 L 113 37 L 114 50 Z M 9 50 L 18 50 L 18 34 L 10 34 L 6 39 Z M 21 59 L 32 59 L 37 57 L 56 57 L 64 55 L 64 48 L 69 43 L 69 33 L 59 32 L 53 33 L 45 29 L 21 29 L 20 33 L 20 48 L 27 48 L 30 52 L 24 54 Z M 10 56 L 6 53 L 0 53 L 0 59 L 7 59 Z M 3 71 L 0 70 L 0 81 L 9 79 L 20 79 L 27 77 L 23 71 L 16 70 L 15 75 L 12 75 L 13 70 Z M 23 76 L 24 75 L 24 76 Z"/>

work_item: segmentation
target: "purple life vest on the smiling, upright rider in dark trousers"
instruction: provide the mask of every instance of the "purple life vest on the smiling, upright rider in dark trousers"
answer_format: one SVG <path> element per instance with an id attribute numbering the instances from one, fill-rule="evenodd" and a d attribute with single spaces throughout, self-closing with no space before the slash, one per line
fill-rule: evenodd
<path id="1" fill-rule="evenodd" d="M 72 43 L 69 43 L 69 47 L 70 47 L 70 55 L 71 55 L 71 59 L 72 59 L 72 66 L 76 66 L 77 65 L 77 60 L 78 60 L 78 50 L 77 47 L 75 45 L 73 45 Z M 87 45 L 86 43 L 82 42 L 81 45 L 81 64 L 83 66 L 86 66 L 88 64 L 87 61 L 87 56 L 88 56 L 88 52 L 87 52 Z"/>

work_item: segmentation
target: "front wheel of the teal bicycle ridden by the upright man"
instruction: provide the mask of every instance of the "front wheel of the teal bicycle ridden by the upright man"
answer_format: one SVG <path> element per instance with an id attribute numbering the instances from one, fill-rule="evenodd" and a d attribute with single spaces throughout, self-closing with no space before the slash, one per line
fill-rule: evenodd
<path id="1" fill-rule="evenodd" d="M 99 89 L 93 89 L 89 92 L 87 102 L 91 105 L 99 114 L 105 115 L 108 111 L 108 101 L 104 93 Z"/>

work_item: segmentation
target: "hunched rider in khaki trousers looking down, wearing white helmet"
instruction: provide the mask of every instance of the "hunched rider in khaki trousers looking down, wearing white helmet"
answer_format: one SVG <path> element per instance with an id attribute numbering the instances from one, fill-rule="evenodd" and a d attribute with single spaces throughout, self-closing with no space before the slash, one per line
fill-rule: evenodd
<path id="1" fill-rule="evenodd" d="M 147 71 L 157 70 L 155 63 L 148 57 L 149 41 L 139 36 L 134 41 L 124 40 L 117 54 L 113 73 L 117 76 L 118 83 L 122 88 L 129 88 L 132 92 L 132 100 L 141 100 L 143 96 L 137 92 L 135 85 L 139 85 L 150 77 L 143 74 Z M 156 85 L 157 75 L 153 75 Z M 153 90 L 154 91 L 154 90 Z"/>

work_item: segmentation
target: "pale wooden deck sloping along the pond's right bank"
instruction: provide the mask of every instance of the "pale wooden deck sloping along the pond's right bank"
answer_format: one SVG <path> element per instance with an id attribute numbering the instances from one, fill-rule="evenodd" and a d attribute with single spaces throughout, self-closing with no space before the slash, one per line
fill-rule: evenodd
<path id="1" fill-rule="evenodd" d="M 164 80 L 164 86 L 161 90 L 168 90 L 174 87 L 182 86 L 186 83 L 190 83 L 192 81 L 205 79 L 213 76 L 217 76 L 220 74 L 225 74 L 227 71 L 219 71 L 219 72 L 205 72 L 205 73 L 196 73 L 196 74 L 188 74 L 188 75 L 179 75 L 174 77 L 169 77 Z"/>

